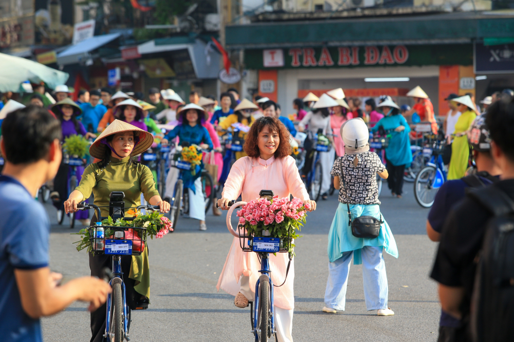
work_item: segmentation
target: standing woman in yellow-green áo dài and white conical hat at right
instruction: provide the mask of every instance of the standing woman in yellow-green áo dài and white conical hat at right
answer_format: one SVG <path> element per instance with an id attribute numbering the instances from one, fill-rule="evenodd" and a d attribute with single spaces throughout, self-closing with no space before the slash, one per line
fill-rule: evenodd
<path id="1" fill-rule="evenodd" d="M 457 110 L 462 114 L 455 123 L 451 159 L 448 167 L 448 180 L 465 176 L 469 160 L 469 143 L 467 132 L 476 118 L 476 107 L 469 95 L 452 100 L 457 103 Z"/>

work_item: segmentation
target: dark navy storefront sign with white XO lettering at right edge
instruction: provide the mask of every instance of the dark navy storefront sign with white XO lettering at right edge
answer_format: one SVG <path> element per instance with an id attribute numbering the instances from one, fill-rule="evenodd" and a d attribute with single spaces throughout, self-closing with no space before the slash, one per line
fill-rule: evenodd
<path id="1" fill-rule="evenodd" d="M 514 72 L 514 44 L 474 45 L 475 73 Z"/>

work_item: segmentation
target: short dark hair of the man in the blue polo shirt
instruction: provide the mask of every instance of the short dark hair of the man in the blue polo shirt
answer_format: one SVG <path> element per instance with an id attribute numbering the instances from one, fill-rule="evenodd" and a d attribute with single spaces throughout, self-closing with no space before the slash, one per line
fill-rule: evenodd
<path id="1" fill-rule="evenodd" d="M 54 140 L 62 140 L 61 122 L 47 109 L 28 106 L 9 113 L 2 122 L 4 158 L 29 164 L 45 158 Z"/>

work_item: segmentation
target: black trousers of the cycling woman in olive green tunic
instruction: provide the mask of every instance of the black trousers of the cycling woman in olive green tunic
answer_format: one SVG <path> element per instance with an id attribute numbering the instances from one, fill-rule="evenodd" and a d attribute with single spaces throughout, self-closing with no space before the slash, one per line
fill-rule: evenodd
<path id="1" fill-rule="evenodd" d="M 91 222 L 96 222 L 96 214 L 91 219 Z M 91 223 L 93 224 L 93 223 Z M 148 248 L 148 245 L 145 246 Z M 134 290 L 135 280 L 128 278 L 130 274 L 130 268 L 132 265 L 132 256 L 121 257 L 121 272 L 123 273 L 123 282 L 125 284 L 125 295 L 128 307 L 134 310 L 136 308 L 136 301 L 141 297 Z M 91 270 L 91 276 L 98 277 L 100 279 L 105 277 L 104 269 L 113 270 L 113 261 L 110 255 L 100 254 L 94 255 L 89 253 L 89 269 Z M 91 312 L 91 342 L 103 342 L 106 339 L 103 337 L 105 334 L 106 326 L 106 315 L 107 315 L 107 304 L 104 303 L 96 311 Z M 130 327 L 130 310 L 128 310 L 128 324 Z"/>

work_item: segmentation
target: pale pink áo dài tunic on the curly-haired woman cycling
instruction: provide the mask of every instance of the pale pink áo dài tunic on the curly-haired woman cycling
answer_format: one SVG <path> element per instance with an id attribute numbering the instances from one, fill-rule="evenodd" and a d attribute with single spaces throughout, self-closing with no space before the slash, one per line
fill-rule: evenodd
<path id="1" fill-rule="evenodd" d="M 274 195 L 278 195 L 280 198 L 289 197 L 289 194 L 292 194 L 302 201 L 309 199 L 305 185 L 300 178 L 298 167 L 291 156 L 278 159 L 271 157 L 268 160 L 250 157 L 238 159 L 230 169 L 222 197 L 237 199 L 241 194 L 243 201 L 249 202 L 252 199 L 259 198 L 261 190 L 271 190 Z M 233 213 L 234 216 L 235 212 Z M 274 284 L 280 285 L 284 281 L 288 261 L 287 253 L 277 253 L 277 256 L 269 254 L 269 268 L 271 270 L 271 280 Z M 257 254 L 243 252 L 239 238 L 234 238 L 216 288 L 218 291 L 221 288 L 235 296 L 241 287 L 239 279 L 242 275 L 245 275 L 250 277 L 250 289 L 253 292 L 255 283 L 261 275 L 259 273 L 260 269 L 261 263 Z M 285 310 L 295 308 L 294 278 L 295 264 L 293 260 L 284 286 L 273 289 L 275 306 Z"/>

